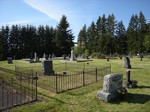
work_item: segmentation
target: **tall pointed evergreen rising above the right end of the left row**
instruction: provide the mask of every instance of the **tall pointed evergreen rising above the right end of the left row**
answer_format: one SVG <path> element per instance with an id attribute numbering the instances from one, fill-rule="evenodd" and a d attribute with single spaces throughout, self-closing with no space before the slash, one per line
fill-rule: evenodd
<path id="1" fill-rule="evenodd" d="M 71 47 L 74 46 L 74 36 L 72 31 L 68 28 L 69 23 L 67 22 L 67 17 L 63 15 L 60 23 L 57 25 L 55 37 L 55 43 L 57 47 L 55 53 L 59 56 L 63 54 L 70 54 Z"/>

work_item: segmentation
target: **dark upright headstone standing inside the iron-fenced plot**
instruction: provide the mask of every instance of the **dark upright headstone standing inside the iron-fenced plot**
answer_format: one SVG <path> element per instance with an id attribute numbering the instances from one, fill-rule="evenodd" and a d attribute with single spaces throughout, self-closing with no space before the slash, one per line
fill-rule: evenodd
<path id="1" fill-rule="evenodd" d="M 53 75 L 53 62 L 52 60 L 44 60 L 42 62 L 43 75 Z"/>

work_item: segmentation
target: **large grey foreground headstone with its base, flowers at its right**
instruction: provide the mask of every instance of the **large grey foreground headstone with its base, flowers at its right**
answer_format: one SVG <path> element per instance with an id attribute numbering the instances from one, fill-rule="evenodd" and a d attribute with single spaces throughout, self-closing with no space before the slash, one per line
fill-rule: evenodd
<path id="1" fill-rule="evenodd" d="M 109 102 L 119 97 L 118 89 L 122 89 L 123 74 L 108 74 L 104 76 L 103 90 L 98 91 L 98 99 Z"/>

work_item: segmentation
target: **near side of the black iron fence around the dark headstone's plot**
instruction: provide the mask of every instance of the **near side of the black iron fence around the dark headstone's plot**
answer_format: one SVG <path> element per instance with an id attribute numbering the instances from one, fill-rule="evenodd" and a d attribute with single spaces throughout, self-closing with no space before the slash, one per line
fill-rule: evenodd
<path id="1" fill-rule="evenodd" d="M 51 76 L 38 76 L 38 86 L 54 93 L 79 88 L 103 79 L 111 73 L 111 66 L 78 72 L 59 72 Z"/>

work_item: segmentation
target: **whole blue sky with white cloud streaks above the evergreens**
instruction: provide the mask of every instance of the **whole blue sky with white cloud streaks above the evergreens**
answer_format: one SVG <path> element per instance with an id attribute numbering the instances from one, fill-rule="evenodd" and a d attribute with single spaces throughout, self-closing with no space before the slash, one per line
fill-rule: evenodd
<path id="1" fill-rule="evenodd" d="M 67 16 L 76 36 L 84 24 L 96 22 L 98 16 L 114 14 L 128 26 L 132 14 L 142 11 L 150 22 L 150 0 L 0 0 L 0 26 L 12 24 L 50 25 L 56 27 Z"/>

